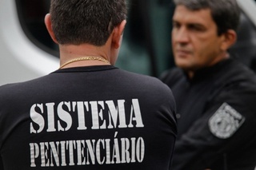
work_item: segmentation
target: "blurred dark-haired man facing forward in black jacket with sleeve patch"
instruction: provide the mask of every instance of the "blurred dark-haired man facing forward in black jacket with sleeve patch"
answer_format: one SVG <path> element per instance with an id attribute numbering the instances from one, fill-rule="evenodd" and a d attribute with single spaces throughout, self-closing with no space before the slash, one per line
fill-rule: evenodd
<path id="1" fill-rule="evenodd" d="M 174 0 L 177 68 L 161 79 L 177 102 L 174 170 L 254 170 L 256 78 L 232 59 L 235 0 Z"/>

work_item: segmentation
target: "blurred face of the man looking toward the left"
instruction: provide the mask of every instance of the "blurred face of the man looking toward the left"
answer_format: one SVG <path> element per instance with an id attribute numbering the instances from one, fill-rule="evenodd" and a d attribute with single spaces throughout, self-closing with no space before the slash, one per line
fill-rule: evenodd
<path id="1" fill-rule="evenodd" d="M 222 57 L 223 36 L 210 9 L 189 10 L 177 6 L 173 17 L 172 45 L 174 61 L 182 69 L 194 71 L 214 65 Z"/>

